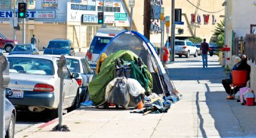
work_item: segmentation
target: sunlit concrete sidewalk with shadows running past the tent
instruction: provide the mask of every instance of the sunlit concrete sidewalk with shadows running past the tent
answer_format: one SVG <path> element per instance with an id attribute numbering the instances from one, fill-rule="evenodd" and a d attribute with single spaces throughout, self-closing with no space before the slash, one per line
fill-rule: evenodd
<path id="1" fill-rule="evenodd" d="M 34 125 L 15 137 L 256 137 L 256 106 L 226 100 L 225 78 L 217 56 L 202 68 L 201 57 L 177 58 L 169 64 L 171 79 L 183 94 L 167 113 L 81 107 L 64 115 L 70 132 L 52 132 L 57 119 Z M 52 123 L 52 124 L 51 124 Z"/>

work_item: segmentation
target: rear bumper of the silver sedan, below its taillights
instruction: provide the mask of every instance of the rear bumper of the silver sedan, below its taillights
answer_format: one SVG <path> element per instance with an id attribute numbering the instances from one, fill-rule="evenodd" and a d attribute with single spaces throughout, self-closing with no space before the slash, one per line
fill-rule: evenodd
<path id="1" fill-rule="evenodd" d="M 23 99 L 8 98 L 8 100 L 15 106 L 38 106 L 52 109 L 55 97 L 54 93 L 50 92 L 24 91 Z"/>

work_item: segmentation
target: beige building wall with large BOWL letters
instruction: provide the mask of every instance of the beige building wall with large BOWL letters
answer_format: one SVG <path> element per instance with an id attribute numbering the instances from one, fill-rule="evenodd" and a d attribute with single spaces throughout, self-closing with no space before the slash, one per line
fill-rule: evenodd
<path id="1" fill-rule="evenodd" d="M 129 0 L 125 0 L 128 4 Z M 217 23 L 224 20 L 225 7 L 222 6 L 224 0 L 179 0 L 175 1 L 175 8 L 182 10 L 182 22 L 184 25 L 175 26 L 175 38 L 186 39 L 188 37 L 206 38 L 207 41 L 213 39 L 213 32 Z M 164 7 L 164 16 L 170 16 L 171 19 L 171 1 L 170 0 L 151 0 L 152 5 Z M 134 26 L 143 34 L 143 8 L 144 1 L 137 0 L 134 5 L 133 16 Z M 130 10 L 130 8 L 128 8 Z M 130 11 L 129 11 L 130 13 Z M 167 40 L 167 28 L 164 28 L 164 41 Z M 178 29 L 183 29 L 183 34 L 178 33 Z M 155 46 L 160 46 L 161 40 L 160 20 L 151 20 L 150 40 Z"/>

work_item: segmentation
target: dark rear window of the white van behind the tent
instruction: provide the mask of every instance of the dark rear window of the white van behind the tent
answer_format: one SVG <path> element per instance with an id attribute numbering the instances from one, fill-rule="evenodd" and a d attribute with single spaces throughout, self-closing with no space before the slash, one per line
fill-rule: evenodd
<path id="1" fill-rule="evenodd" d="M 101 53 L 105 46 L 112 40 L 112 37 L 94 37 L 90 52 L 91 53 Z"/>

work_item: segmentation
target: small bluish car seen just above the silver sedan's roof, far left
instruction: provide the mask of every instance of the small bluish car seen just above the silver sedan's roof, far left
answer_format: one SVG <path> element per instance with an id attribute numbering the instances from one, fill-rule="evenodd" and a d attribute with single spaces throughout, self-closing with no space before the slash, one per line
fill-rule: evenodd
<path id="1" fill-rule="evenodd" d="M 36 46 L 34 46 L 34 44 L 17 44 L 9 53 L 9 55 L 13 54 L 38 55 L 39 50 L 36 48 Z"/>

